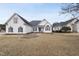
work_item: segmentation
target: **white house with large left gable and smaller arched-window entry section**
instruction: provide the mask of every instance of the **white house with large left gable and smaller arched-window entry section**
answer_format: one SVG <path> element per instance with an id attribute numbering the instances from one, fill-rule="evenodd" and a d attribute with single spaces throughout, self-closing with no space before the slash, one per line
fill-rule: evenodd
<path id="1" fill-rule="evenodd" d="M 7 34 L 26 34 L 31 32 L 51 33 L 52 26 L 47 20 L 28 22 L 23 17 L 14 13 L 5 23 Z"/>

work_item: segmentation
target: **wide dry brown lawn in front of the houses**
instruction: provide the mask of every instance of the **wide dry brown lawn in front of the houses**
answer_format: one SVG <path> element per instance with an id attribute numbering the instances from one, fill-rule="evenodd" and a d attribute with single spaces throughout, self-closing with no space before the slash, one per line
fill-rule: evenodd
<path id="1" fill-rule="evenodd" d="M 79 55 L 79 33 L 0 35 L 0 55 Z"/>

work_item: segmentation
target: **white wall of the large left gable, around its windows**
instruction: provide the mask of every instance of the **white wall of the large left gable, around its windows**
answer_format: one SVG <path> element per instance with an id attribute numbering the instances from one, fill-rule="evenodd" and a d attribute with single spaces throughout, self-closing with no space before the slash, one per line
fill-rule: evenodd
<path id="1" fill-rule="evenodd" d="M 17 15 L 15 15 L 14 17 L 18 17 Z M 8 22 L 8 24 L 6 24 L 6 33 L 10 33 L 8 32 L 8 28 L 11 26 L 13 27 L 13 32 L 12 33 L 18 33 L 18 28 L 19 27 L 22 27 L 23 28 L 23 33 L 30 33 L 32 32 L 32 27 L 29 26 L 29 25 L 25 25 L 25 22 L 20 19 L 20 17 L 18 17 L 18 22 L 17 23 L 14 23 L 14 17 L 12 17 L 12 19 Z"/>

